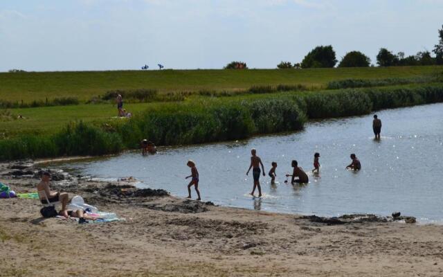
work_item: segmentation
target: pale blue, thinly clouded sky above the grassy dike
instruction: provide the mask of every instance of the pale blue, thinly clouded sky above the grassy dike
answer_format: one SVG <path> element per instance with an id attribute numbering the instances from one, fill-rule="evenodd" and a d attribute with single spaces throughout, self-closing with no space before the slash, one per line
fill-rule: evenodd
<path id="1" fill-rule="evenodd" d="M 433 49 L 443 0 L 0 0 L 0 71 L 220 69 Z"/>

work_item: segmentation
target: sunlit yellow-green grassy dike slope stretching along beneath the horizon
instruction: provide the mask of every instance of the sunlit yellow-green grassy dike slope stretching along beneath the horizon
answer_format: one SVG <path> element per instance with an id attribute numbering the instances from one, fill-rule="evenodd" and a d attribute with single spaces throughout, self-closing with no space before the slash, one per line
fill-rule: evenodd
<path id="1" fill-rule="evenodd" d="M 79 71 L 0 73 L 0 100 L 31 102 L 57 97 L 81 101 L 116 89 L 159 92 L 248 89 L 254 85 L 303 84 L 325 88 L 333 80 L 413 78 L 442 73 L 443 66 L 337 69 Z"/>

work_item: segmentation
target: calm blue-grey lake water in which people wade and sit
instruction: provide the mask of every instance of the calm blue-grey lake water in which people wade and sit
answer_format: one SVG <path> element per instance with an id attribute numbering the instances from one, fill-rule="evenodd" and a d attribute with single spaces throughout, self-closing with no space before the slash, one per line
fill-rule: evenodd
<path id="1" fill-rule="evenodd" d="M 417 217 L 419 222 L 443 222 L 443 104 L 377 112 L 383 122 L 381 141 L 374 141 L 372 115 L 309 123 L 301 132 L 260 136 L 247 141 L 160 148 L 142 157 L 127 152 L 116 157 L 69 163 L 62 167 L 91 177 L 136 177 L 140 187 L 163 188 L 187 196 L 190 169 L 197 164 L 204 201 L 282 213 L 325 216 L 375 213 Z M 260 177 L 262 199 L 253 199 L 252 174 L 246 176 L 251 148 L 262 158 L 266 177 Z M 309 175 L 305 186 L 285 184 L 291 160 L 305 171 L 313 168 L 320 152 L 320 177 Z M 362 170 L 345 170 L 350 154 Z M 278 184 L 271 186 L 267 172 L 278 163 Z M 195 198 L 192 190 L 192 197 Z"/>

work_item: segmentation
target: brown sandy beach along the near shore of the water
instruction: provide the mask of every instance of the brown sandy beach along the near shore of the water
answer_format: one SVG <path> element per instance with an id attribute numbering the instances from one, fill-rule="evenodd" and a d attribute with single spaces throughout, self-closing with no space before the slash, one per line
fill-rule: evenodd
<path id="1" fill-rule="evenodd" d="M 0 181 L 35 192 L 39 179 L 10 175 L 13 165 Z M 51 188 L 125 221 L 42 219 L 35 199 L 0 199 L 0 276 L 443 276 L 443 226 L 328 225 L 69 178 Z"/>

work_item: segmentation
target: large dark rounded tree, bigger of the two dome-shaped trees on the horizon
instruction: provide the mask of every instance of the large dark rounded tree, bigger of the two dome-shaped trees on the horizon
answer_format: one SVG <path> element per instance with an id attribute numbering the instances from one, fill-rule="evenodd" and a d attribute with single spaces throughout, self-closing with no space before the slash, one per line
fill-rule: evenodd
<path id="1" fill-rule="evenodd" d="M 302 68 L 334 67 L 337 63 L 335 51 L 331 45 L 317 46 L 302 60 Z"/>

